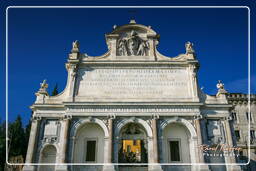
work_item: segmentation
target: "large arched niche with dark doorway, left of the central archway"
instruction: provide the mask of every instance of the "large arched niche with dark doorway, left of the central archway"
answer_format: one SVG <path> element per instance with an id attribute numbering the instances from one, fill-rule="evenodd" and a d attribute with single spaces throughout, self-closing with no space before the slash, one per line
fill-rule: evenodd
<path id="1" fill-rule="evenodd" d="M 78 128 L 74 143 L 74 163 L 104 162 L 104 131 L 97 123 Z"/>

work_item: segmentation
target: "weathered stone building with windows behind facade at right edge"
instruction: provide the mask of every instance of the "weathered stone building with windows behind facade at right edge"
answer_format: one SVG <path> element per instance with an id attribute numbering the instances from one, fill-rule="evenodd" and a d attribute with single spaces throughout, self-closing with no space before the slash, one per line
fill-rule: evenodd
<path id="1" fill-rule="evenodd" d="M 242 93 L 229 93 L 227 99 L 229 104 L 233 105 L 231 109 L 233 142 L 237 147 L 242 148 L 238 161 L 247 163 L 250 160 L 249 165 L 242 166 L 243 170 L 256 170 L 256 95 L 250 95 L 250 103 L 249 95 Z"/>

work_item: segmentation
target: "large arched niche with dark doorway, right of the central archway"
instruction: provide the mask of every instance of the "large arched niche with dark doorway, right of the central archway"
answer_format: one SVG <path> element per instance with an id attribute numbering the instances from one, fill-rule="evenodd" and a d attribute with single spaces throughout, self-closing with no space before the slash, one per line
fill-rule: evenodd
<path id="1" fill-rule="evenodd" d="M 191 163 L 190 132 L 180 123 L 170 123 L 163 132 L 165 163 Z"/>

